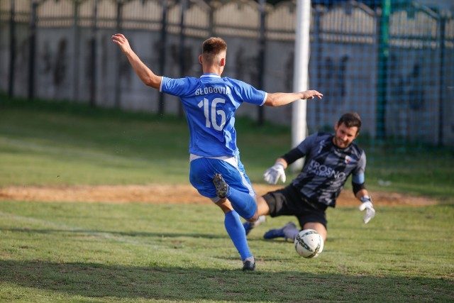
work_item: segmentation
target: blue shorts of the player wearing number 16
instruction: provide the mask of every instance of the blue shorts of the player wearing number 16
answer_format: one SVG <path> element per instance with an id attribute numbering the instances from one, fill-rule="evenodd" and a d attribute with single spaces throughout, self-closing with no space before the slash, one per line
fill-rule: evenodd
<path id="1" fill-rule="evenodd" d="M 216 187 L 213 184 L 213 177 L 216 173 L 221 174 L 230 187 L 255 198 L 254 189 L 239 157 L 231 157 L 226 160 L 196 158 L 191 161 L 189 181 L 199 194 L 218 202 Z"/>

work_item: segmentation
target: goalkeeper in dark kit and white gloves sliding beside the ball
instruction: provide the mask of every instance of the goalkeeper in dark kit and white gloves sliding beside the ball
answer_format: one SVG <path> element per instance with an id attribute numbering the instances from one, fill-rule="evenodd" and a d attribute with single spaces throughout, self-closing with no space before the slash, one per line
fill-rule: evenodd
<path id="1" fill-rule="evenodd" d="M 353 142 L 361 129 L 361 119 L 356 113 L 347 113 L 335 124 L 335 133 L 315 133 L 296 148 L 280 158 L 264 174 L 265 181 L 276 184 L 285 182 L 284 170 L 299 158 L 306 157 L 299 175 L 283 189 L 257 197 L 258 221 L 245 222 L 246 234 L 265 221 L 265 216 L 297 216 L 301 229 L 315 229 L 326 240 L 326 209 L 336 206 L 348 176 L 352 175 L 353 192 L 360 200 L 360 211 L 365 211 L 365 224 L 375 216 L 372 198 L 365 188 L 366 156 L 364 150 Z M 299 228 L 289 222 L 282 228 L 267 231 L 264 238 L 294 240 Z"/>

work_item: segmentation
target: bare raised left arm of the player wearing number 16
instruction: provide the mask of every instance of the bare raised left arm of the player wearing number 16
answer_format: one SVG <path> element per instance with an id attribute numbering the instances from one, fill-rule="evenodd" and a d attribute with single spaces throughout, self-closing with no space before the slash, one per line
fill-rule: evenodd
<path id="1" fill-rule="evenodd" d="M 131 66 L 134 69 L 134 72 L 138 75 L 140 80 L 142 80 L 142 82 L 149 87 L 160 89 L 162 78 L 160 76 L 155 75 L 155 73 L 152 72 L 140 60 L 138 55 L 135 55 L 131 48 L 131 45 L 129 45 L 128 39 L 126 39 L 126 37 L 123 34 L 116 33 L 115 35 L 112 35 L 112 41 L 118 44 L 123 54 L 126 55 L 126 57 L 129 60 L 129 63 L 131 63 Z"/>

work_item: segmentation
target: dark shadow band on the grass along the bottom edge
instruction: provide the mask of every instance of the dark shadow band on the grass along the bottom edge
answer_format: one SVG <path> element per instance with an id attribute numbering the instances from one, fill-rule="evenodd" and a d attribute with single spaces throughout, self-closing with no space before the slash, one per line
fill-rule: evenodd
<path id="1" fill-rule="evenodd" d="M 454 299 L 453 281 L 443 278 L 129 267 L 40 260 L 0 261 L 0 282 L 50 291 L 55 293 L 55 298 L 65 294 L 90 298 L 233 302 L 453 302 Z"/>

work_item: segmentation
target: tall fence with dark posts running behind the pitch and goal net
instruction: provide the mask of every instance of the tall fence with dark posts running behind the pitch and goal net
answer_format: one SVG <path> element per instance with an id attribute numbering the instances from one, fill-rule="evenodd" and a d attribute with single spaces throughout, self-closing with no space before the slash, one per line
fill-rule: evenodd
<path id="1" fill-rule="evenodd" d="M 353 110 L 372 138 L 454 145 L 453 11 L 363 2 L 313 5 L 310 87 L 325 97 L 308 102 L 309 131 Z M 0 90 L 182 114 L 174 97 L 135 77 L 110 40 L 122 32 L 146 65 L 169 77 L 198 77 L 201 42 L 221 36 L 224 75 L 288 92 L 295 21 L 295 1 L 0 0 Z M 291 107 L 242 106 L 238 115 L 285 124 Z"/>

